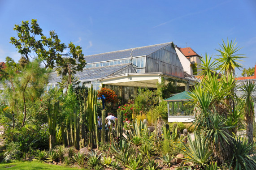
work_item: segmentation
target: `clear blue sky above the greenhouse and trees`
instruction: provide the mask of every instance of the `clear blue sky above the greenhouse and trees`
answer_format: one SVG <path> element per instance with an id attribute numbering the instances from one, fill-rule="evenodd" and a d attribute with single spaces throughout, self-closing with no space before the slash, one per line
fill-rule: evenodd
<path id="1" fill-rule="evenodd" d="M 20 58 L 9 38 L 32 18 L 85 55 L 166 42 L 216 55 L 222 39 L 236 38 L 244 67 L 256 62 L 255 0 L 0 0 L 0 61 Z"/>

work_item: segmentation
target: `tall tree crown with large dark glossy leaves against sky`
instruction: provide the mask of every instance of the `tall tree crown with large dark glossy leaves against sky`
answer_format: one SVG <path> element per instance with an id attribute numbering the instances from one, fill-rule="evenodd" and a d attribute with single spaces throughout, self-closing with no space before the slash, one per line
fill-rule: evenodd
<path id="1" fill-rule="evenodd" d="M 78 71 L 82 71 L 86 65 L 80 46 L 75 46 L 72 42 L 68 46 L 61 43 L 53 30 L 47 38 L 36 19 L 32 19 L 30 23 L 22 21 L 22 24 L 15 25 L 13 30 L 17 31 L 18 38 L 11 37 L 10 43 L 26 60 L 38 58 L 43 61 L 45 68 L 52 69 L 65 66 L 64 57 L 67 57 L 71 65 L 76 65 Z"/>

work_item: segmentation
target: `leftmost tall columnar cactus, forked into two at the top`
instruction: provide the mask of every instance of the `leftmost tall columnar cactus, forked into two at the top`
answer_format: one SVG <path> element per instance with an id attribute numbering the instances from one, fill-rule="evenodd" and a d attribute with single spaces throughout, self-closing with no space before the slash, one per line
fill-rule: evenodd
<path id="1" fill-rule="evenodd" d="M 55 144 L 56 120 L 57 120 L 57 115 L 59 114 L 59 106 L 60 106 L 59 102 L 56 102 L 54 104 L 54 110 L 53 110 L 54 113 L 52 115 L 52 104 L 50 100 L 48 100 L 49 149 L 53 149 Z"/>

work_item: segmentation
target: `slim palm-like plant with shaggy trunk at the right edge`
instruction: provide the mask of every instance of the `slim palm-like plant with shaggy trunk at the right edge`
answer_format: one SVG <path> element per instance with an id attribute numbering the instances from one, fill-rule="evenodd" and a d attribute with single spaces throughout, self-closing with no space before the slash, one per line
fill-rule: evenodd
<path id="1" fill-rule="evenodd" d="M 254 101 L 256 99 L 255 81 L 245 81 L 240 87 L 243 92 L 244 117 L 247 123 L 246 135 L 249 143 L 253 143 Z"/>

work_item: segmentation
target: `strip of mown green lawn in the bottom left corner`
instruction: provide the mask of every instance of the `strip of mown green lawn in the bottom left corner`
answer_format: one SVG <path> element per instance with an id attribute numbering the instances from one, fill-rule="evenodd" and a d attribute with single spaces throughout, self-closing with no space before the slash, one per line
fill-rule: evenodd
<path id="1" fill-rule="evenodd" d="M 21 161 L 15 163 L 0 163 L 0 170 L 81 170 L 78 168 L 68 168 L 59 165 L 50 165 L 37 161 Z"/>

